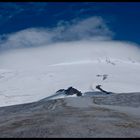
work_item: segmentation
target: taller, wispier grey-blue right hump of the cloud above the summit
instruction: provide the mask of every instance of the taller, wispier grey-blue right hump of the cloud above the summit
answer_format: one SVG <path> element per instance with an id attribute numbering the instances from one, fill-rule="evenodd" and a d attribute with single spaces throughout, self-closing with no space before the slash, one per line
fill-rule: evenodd
<path id="1" fill-rule="evenodd" d="M 81 21 L 73 21 L 62 33 L 67 40 L 90 39 L 97 36 L 111 38 L 113 33 L 108 29 L 101 17 L 92 17 Z"/>

